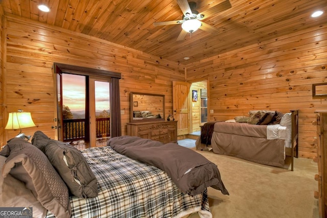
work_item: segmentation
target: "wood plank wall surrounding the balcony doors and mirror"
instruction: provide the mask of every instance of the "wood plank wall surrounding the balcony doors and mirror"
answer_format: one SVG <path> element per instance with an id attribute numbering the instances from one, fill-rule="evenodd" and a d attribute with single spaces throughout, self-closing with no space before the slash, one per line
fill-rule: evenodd
<path id="1" fill-rule="evenodd" d="M 172 113 L 172 81 L 184 81 L 184 66 L 98 38 L 6 15 L 5 120 L 8 112 L 30 111 L 37 130 L 54 138 L 53 62 L 120 72 L 122 134 L 130 121 L 130 92 L 166 95 L 165 113 Z M 17 131 L 6 130 L 6 139 Z"/>

